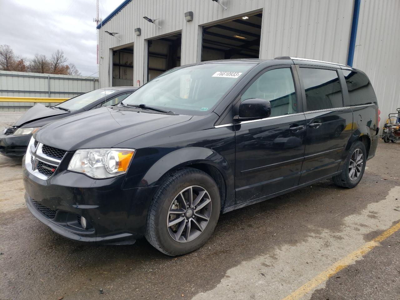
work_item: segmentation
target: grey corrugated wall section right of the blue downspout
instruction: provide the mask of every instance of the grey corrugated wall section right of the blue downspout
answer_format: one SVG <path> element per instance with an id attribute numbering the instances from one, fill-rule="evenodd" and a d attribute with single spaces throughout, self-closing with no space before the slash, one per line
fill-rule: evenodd
<path id="1" fill-rule="evenodd" d="M 381 111 L 380 128 L 400 107 L 400 1 L 362 0 L 353 66 L 372 82 Z"/>

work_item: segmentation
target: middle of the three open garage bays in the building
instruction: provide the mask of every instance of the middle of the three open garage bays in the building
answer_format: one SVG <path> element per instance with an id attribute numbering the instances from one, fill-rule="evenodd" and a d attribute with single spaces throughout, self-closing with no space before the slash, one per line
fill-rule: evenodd
<path id="1" fill-rule="evenodd" d="M 181 44 L 180 33 L 148 41 L 148 80 L 180 66 Z"/>

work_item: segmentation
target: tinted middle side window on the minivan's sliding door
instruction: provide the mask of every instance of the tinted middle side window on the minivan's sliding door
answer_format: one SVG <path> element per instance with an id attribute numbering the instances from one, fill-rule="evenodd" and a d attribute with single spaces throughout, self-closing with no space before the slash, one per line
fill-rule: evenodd
<path id="1" fill-rule="evenodd" d="M 307 111 L 343 107 L 342 89 L 335 70 L 300 68 Z"/>

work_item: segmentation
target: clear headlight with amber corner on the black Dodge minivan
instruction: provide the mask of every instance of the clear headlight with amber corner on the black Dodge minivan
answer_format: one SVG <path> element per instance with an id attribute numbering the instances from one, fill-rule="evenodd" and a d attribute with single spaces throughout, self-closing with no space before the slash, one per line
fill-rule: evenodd
<path id="1" fill-rule="evenodd" d="M 126 173 L 134 149 L 80 149 L 68 165 L 69 171 L 92 178 L 109 178 Z"/>

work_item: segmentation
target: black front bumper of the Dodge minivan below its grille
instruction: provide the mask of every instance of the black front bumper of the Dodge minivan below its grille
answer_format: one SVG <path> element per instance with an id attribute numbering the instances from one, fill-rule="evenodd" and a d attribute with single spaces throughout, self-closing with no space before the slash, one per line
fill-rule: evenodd
<path id="1" fill-rule="evenodd" d="M 23 169 L 28 209 L 61 236 L 101 244 L 132 244 L 143 236 L 156 187 L 124 190 L 124 176 L 95 180 L 68 171 L 42 180 Z M 88 229 L 80 225 L 80 216 L 88 220 Z"/>

